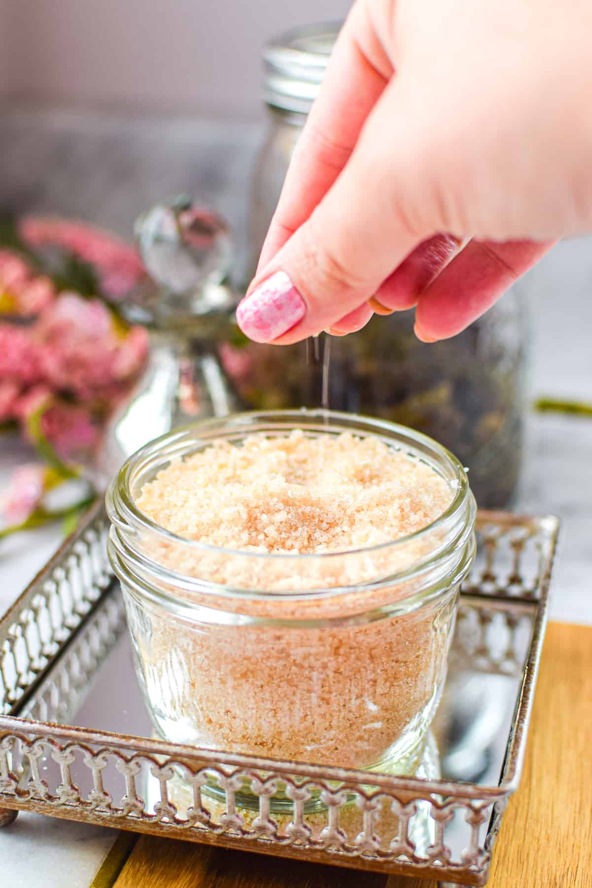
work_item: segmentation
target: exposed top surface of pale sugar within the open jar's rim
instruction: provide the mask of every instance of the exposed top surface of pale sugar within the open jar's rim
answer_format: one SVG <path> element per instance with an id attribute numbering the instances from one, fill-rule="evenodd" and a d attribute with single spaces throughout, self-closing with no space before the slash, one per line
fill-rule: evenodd
<path id="1" fill-rule="evenodd" d="M 163 469 L 138 507 L 185 539 L 226 549 L 346 551 L 413 534 L 452 500 L 446 481 L 377 438 L 252 435 Z"/>

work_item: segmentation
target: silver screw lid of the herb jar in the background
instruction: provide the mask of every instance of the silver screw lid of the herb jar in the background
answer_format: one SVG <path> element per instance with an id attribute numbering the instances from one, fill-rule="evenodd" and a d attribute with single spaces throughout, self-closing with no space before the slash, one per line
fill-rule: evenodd
<path id="1" fill-rule="evenodd" d="M 264 100 L 272 107 L 308 114 L 317 98 L 341 22 L 296 28 L 266 45 Z"/>

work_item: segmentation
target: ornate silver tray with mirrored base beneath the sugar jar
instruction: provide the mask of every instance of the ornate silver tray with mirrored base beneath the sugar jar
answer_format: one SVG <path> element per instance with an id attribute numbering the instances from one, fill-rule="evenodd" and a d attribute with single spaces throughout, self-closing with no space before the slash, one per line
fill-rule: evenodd
<path id="1" fill-rule="evenodd" d="M 99 504 L 0 621 L 0 823 L 27 809 L 485 884 L 524 759 L 556 535 L 550 516 L 480 513 L 443 701 L 417 772 L 397 777 L 156 739 Z"/>

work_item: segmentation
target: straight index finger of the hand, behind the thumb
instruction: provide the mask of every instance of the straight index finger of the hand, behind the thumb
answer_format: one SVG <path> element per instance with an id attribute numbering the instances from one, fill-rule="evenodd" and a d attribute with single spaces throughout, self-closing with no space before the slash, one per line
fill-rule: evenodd
<path id="1" fill-rule="evenodd" d="M 355 4 L 337 37 L 319 96 L 298 139 L 257 273 L 327 194 L 391 74 L 391 63 L 366 7 Z"/>

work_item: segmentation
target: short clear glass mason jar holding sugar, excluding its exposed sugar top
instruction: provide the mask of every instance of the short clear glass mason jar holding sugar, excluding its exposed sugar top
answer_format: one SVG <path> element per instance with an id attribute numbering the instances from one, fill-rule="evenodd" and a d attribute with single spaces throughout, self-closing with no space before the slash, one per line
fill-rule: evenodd
<path id="1" fill-rule="evenodd" d="M 422 531 L 323 554 L 232 551 L 138 510 L 144 484 L 212 440 L 378 436 L 430 464 L 454 500 Z M 438 706 L 457 593 L 474 555 L 462 464 L 400 425 L 322 411 L 210 419 L 132 456 L 107 494 L 139 684 L 155 731 L 208 749 L 413 772 Z"/>

